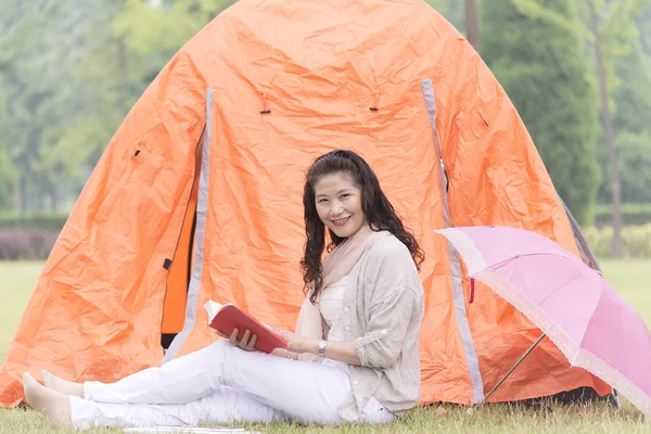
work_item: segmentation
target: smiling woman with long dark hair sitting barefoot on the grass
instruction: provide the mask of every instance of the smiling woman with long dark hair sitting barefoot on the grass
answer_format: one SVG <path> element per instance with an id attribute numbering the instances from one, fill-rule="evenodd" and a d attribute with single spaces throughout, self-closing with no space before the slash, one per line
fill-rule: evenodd
<path id="1" fill-rule="evenodd" d="M 27 403 L 54 424 L 148 426 L 233 420 L 387 423 L 420 396 L 423 254 L 369 165 L 333 151 L 308 170 L 306 299 L 286 349 L 248 331 L 113 384 L 24 375 Z M 326 229 L 333 250 L 321 264 Z M 226 386 L 228 384 L 228 386 Z"/>

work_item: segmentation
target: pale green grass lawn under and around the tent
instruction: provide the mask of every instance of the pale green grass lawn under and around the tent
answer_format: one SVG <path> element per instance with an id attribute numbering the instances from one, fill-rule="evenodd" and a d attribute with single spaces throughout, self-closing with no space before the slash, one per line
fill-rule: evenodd
<path id="1" fill-rule="evenodd" d="M 651 324 L 651 260 L 604 260 L 605 278 L 631 303 Z M 0 263 L 0 361 L 9 349 L 29 295 L 36 285 L 42 264 Z M 651 422 L 628 403 L 623 410 L 603 404 L 549 408 L 488 405 L 474 414 L 467 408 L 442 406 L 419 408 L 407 420 L 387 426 L 310 427 L 286 424 L 253 425 L 261 433 L 648 433 Z M 34 412 L 0 409 L 0 434 L 59 432 Z M 119 433 L 122 430 L 93 430 L 95 433 Z"/>

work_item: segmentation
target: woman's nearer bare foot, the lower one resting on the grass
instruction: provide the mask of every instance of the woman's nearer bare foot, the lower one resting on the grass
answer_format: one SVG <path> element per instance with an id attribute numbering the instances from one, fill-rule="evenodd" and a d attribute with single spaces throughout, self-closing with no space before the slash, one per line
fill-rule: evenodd
<path id="1" fill-rule="evenodd" d="M 54 425 L 72 426 L 69 396 L 41 386 L 28 372 L 23 374 L 23 387 L 29 407 L 43 413 Z"/>

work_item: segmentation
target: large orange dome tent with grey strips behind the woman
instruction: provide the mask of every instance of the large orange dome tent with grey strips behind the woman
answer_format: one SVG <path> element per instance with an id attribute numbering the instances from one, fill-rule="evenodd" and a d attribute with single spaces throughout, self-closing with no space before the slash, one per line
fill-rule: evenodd
<path id="1" fill-rule="evenodd" d="M 434 128 L 433 128 L 434 126 Z M 430 231 L 505 225 L 578 253 L 515 108 L 468 41 L 420 0 L 243 0 L 163 69 L 93 171 L 0 370 L 117 380 L 215 340 L 202 306 L 292 329 L 303 299 L 305 169 L 360 153 L 426 254 L 422 401 L 476 403 L 538 337 L 469 282 Z M 441 176 L 444 175 L 444 176 Z M 189 284 L 188 284 L 189 283 Z M 545 339 L 490 400 L 610 387 Z"/>

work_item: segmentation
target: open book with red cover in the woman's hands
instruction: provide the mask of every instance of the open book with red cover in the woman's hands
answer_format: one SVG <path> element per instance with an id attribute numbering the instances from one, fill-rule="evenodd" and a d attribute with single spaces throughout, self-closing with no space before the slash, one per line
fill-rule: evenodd
<path id="1" fill-rule="evenodd" d="M 288 342 L 284 337 L 273 332 L 268 326 L 261 323 L 251 315 L 234 305 L 220 305 L 209 299 L 204 308 L 208 312 L 208 326 L 230 336 L 233 329 L 238 329 L 238 339 L 244 336 L 246 330 L 251 335 L 256 335 L 255 349 L 271 353 L 276 348 L 284 348 Z"/>

